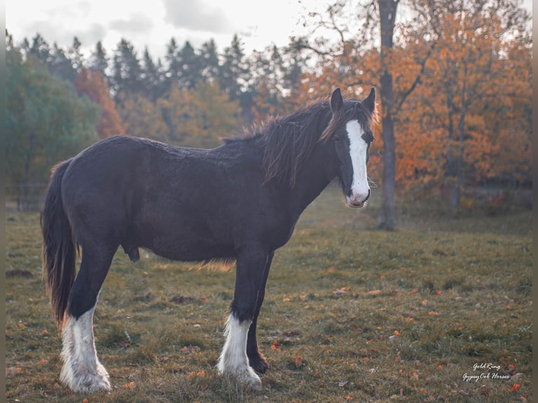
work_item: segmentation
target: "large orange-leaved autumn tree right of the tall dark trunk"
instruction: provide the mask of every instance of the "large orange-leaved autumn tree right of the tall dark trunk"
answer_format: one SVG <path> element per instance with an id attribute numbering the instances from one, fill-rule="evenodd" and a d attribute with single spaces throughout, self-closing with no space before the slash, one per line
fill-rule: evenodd
<path id="1" fill-rule="evenodd" d="M 444 165 L 437 164 L 435 172 L 425 167 L 423 173 L 451 188 L 451 204 L 457 208 L 469 180 L 506 177 L 504 167 L 516 169 L 518 164 L 509 162 L 516 160 L 513 156 L 501 157 L 507 145 L 518 145 L 517 159 L 530 153 L 529 128 L 520 126 L 512 113 L 514 105 L 530 102 L 530 75 L 513 74 L 529 72 L 529 17 L 518 1 L 417 1 L 414 8 L 423 16 L 422 35 L 436 37 L 417 104 L 425 112 L 416 120 L 441 128 L 438 143 L 444 147 L 437 151 Z M 517 58 L 512 49 L 520 49 Z M 499 136 L 506 138 L 506 126 L 511 136 L 502 145 Z M 505 163 L 499 164 L 501 160 Z"/>

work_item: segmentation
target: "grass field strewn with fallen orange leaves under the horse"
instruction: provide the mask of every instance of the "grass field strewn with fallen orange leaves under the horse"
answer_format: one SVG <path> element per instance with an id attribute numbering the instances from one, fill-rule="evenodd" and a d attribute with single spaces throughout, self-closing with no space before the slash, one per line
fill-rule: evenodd
<path id="1" fill-rule="evenodd" d="M 348 209 L 331 187 L 275 254 L 258 321 L 271 366 L 260 391 L 216 371 L 234 270 L 118 252 L 94 319 L 113 390 L 96 395 L 59 384 L 39 216 L 8 214 L 6 399 L 532 401 L 532 211 L 405 204 L 398 230 L 383 232 L 377 206 Z"/>

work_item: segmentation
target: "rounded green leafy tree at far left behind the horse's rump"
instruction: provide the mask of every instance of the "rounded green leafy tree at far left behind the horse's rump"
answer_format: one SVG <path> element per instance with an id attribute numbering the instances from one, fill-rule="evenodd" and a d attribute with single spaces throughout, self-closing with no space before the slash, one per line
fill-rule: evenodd
<path id="1" fill-rule="evenodd" d="M 22 209 L 48 180 L 56 162 L 98 140 L 99 107 L 72 84 L 52 77 L 34 55 L 6 53 L 6 178 Z"/>

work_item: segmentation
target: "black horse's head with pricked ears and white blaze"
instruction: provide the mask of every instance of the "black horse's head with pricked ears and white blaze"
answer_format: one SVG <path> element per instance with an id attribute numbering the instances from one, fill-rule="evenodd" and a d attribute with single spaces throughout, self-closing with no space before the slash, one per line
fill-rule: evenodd
<path id="1" fill-rule="evenodd" d="M 343 100 L 340 88 L 331 96 L 332 119 L 322 138 L 332 143 L 338 159 L 337 175 L 350 207 L 362 207 L 370 196 L 366 164 L 374 140 L 371 124 L 376 114 L 376 91 L 365 100 Z"/>

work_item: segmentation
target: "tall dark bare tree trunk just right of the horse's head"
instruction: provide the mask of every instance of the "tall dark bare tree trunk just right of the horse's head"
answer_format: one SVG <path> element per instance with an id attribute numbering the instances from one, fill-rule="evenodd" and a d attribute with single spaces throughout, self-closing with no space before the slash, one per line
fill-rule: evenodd
<path id="1" fill-rule="evenodd" d="M 387 230 L 394 229 L 395 192 L 395 140 L 394 140 L 394 91 L 391 68 L 387 65 L 387 55 L 393 48 L 393 34 L 398 0 L 379 0 L 381 19 L 381 103 L 383 106 L 383 182 L 381 188 L 381 209 L 377 225 Z"/>

